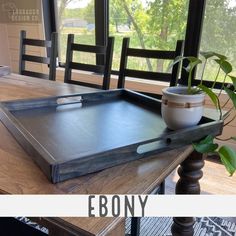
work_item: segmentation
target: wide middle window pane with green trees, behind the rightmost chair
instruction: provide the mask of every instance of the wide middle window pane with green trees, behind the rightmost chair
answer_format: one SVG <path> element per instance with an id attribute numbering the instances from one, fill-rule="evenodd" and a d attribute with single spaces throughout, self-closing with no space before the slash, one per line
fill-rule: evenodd
<path id="1" fill-rule="evenodd" d="M 119 70 L 123 37 L 134 48 L 175 50 L 176 41 L 185 38 L 188 0 L 110 0 L 109 34 L 115 36 L 113 68 Z M 135 62 L 129 67 L 163 71 L 163 61 Z"/>

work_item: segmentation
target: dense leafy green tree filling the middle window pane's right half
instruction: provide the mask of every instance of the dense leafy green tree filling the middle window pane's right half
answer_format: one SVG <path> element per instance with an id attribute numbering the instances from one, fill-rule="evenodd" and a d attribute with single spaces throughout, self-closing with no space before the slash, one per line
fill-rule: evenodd
<path id="1" fill-rule="evenodd" d="M 150 48 L 173 50 L 178 39 L 184 39 L 188 1 L 155 0 L 148 5 L 147 45 Z M 163 71 L 163 61 L 157 62 L 157 70 Z"/>

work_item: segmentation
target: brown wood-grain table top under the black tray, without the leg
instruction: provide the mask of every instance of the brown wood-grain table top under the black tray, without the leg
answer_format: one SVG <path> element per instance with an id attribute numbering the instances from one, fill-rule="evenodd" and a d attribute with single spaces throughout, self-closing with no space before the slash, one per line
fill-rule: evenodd
<path id="1" fill-rule="evenodd" d="M 17 74 L 0 77 L 0 101 L 93 91 L 96 90 Z M 151 193 L 192 152 L 192 147 L 186 146 L 52 184 L 2 123 L 0 123 L 0 133 L 0 192 L 9 194 L 147 194 Z M 99 235 L 116 224 L 119 218 L 56 220 L 65 227 L 80 228 Z"/>

